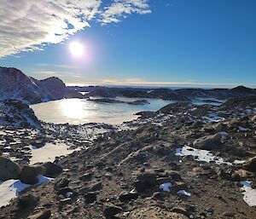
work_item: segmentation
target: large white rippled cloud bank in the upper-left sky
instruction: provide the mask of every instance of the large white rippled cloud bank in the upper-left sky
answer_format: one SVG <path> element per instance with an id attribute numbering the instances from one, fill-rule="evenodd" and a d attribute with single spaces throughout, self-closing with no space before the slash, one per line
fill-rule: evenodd
<path id="1" fill-rule="evenodd" d="M 150 13 L 148 0 L 0 0 L 0 57 L 61 43 L 96 19 L 119 22 L 125 14 Z"/>

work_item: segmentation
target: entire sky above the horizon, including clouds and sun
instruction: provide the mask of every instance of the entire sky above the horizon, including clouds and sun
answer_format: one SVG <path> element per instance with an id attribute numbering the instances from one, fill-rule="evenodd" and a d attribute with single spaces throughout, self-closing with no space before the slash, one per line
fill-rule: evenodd
<path id="1" fill-rule="evenodd" d="M 33 78 L 256 87 L 255 0 L 0 2 L 0 66 Z"/>

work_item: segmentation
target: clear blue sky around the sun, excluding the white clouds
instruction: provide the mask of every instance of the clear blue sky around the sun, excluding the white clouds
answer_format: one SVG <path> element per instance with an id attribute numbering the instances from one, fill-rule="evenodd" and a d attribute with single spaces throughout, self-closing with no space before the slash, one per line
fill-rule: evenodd
<path id="1" fill-rule="evenodd" d="M 142 2 L 150 13 L 122 14 L 103 26 L 90 20 L 44 50 L 4 55 L 0 66 L 68 84 L 256 87 L 256 1 Z M 74 41 L 83 44 L 82 57 L 70 54 Z"/>

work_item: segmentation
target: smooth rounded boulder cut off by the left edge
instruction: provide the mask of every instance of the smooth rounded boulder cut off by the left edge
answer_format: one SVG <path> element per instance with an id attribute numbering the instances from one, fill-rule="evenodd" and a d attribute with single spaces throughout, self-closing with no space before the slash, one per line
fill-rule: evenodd
<path id="1" fill-rule="evenodd" d="M 0 181 L 18 179 L 20 166 L 9 158 L 0 157 Z"/>

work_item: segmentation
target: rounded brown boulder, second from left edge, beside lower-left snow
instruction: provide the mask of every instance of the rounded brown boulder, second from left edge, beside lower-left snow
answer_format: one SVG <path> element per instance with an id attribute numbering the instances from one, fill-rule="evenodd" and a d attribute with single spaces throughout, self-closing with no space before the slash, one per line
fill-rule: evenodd
<path id="1" fill-rule="evenodd" d="M 44 167 L 41 165 L 38 166 L 29 166 L 24 165 L 20 172 L 20 182 L 26 184 L 36 184 L 38 183 L 38 175 L 44 174 Z"/>

